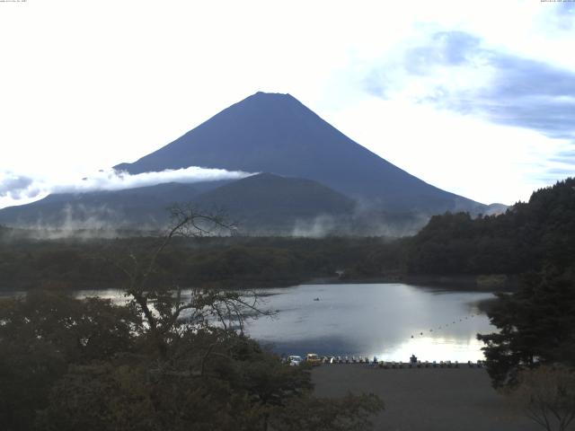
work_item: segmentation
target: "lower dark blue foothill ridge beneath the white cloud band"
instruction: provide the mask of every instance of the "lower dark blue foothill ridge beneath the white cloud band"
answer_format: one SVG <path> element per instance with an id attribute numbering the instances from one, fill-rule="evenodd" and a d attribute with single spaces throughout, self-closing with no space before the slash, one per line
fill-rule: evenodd
<path id="1" fill-rule="evenodd" d="M 191 202 L 202 212 L 224 210 L 242 232 L 291 233 L 315 217 L 349 216 L 355 202 L 313 180 L 261 173 L 243 180 L 159 184 L 138 189 L 50 195 L 0 210 L 0 223 L 69 229 L 159 227 L 167 207 Z"/>

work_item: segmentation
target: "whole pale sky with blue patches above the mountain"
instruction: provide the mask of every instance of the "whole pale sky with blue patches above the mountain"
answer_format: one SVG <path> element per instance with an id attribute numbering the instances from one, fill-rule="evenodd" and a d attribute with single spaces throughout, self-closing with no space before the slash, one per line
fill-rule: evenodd
<path id="1" fill-rule="evenodd" d="M 0 38 L 0 207 L 241 178 L 111 166 L 258 91 L 482 203 L 575 175 L 575 2 L 0 0 Z"/>

